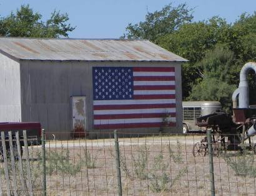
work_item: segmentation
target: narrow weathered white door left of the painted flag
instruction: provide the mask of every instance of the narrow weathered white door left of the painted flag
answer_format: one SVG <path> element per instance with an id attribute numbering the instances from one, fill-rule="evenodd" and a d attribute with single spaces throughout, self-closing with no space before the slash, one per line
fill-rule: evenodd
<path id="1" fill-rule="evenodd" d="M 72 96 L 72 124 L 73 131 L 77 136 L 84 135 L 86 131 L 86 96 Z"/>

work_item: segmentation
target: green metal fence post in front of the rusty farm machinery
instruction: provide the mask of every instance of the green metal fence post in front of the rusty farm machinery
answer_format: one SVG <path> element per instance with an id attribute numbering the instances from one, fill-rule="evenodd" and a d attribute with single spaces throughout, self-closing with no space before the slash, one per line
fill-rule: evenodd
<path id="1" fill-rule="evenodd" d="M 212 196 L 215 195 L 214 185 L 214 160 L 212 153 L 212 136 L 210 135 L 211 130 L 207 129 L 207 141 L 208 141 L 208 154 L 209 154 L 209 166 L 210 166 L 210 193 Z"/>

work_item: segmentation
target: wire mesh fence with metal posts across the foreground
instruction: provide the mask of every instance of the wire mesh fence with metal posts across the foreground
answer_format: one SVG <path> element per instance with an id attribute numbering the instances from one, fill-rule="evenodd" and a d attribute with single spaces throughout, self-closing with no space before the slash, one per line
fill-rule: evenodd
<path id="1" fill-rule="evenodd" d="M 54 139 L 57 134 L 47 134 L 40 146 L 25 145 L 22 159 L 12 160 L 6 147 L 2 195 L 256 194 L 254 147 L 247 143 L 229 150 L 219 141 L 204 142 L 206 134 L 117 133 L 115 138 L 113 132 L 104 139 L 74 139 L 62 133 L 71 139 L 61 140 Z"/>

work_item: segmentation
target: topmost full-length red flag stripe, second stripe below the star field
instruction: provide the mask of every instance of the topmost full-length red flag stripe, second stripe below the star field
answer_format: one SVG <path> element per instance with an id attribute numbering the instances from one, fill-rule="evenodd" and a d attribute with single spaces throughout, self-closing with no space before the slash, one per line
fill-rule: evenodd
<path id="1" fill-rule="evenodd" d="M 96 105 L 93 110 L 132 110 L 150 108 L 175 108 L 175 103 L 163 104 L 130 104 L 130 105 Z"/>

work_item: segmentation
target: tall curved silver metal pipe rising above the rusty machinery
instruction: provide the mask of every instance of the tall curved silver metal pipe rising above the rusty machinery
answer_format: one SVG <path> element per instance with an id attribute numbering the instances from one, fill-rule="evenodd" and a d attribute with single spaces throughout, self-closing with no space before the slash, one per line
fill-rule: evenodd
<path id="1" fill-rule="evenodd" d="M 249 85 L 247 75 L 249 70 L 254 70 L 256 73 L 256 63 L 249 62 L 242 67 L 240 72 L 239 88 L 232 95 L 233 108 L 237 108 L 237 96 L 239 96 L 239 108 L 249 108 Z"/>

